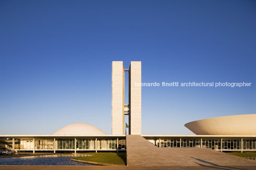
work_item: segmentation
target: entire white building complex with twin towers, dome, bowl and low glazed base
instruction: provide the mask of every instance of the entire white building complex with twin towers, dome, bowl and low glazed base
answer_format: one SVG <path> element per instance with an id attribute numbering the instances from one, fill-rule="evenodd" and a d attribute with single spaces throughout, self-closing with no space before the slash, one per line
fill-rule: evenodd
<path id="1" fill-rule="evenodd" d="M 125 103 L 125 72 L 129 75 L 129 102 Z M 86 123 L 64 126 L 50 135 L 0 135 L 12 140 L 17 152 L 125 151 L 125 115 L 128 134 L 141 135 L 141 62 L 112 62 L 112 134 Z M 224 116 L 185 124 L 196 135 L 141 135 L 157 147 L 204 147 L 219 151 L 256 151 L 256 114 Z"/>

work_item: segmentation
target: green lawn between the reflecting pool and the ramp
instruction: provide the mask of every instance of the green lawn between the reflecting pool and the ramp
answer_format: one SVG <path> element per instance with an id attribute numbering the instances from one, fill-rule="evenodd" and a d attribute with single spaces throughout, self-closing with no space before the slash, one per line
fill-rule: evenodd
<path id="1" fill-rule="evenodd" d="M 117 165 L 126 165 L 126 153 L 115 152 L 90 152 L 94 156 L 77 157 L 75 160 L 85 160 L 92 162 L 111 163 Z"/>

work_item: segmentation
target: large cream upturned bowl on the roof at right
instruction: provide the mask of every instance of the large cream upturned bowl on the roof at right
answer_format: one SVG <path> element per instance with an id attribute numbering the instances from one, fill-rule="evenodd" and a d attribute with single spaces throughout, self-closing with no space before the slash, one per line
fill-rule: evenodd
<path id="1" fill-rule="evenodd" d="M 184 126 L 197 135 L 256 135 L 256 114 L 202 119 Z"/>

